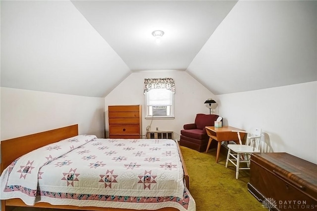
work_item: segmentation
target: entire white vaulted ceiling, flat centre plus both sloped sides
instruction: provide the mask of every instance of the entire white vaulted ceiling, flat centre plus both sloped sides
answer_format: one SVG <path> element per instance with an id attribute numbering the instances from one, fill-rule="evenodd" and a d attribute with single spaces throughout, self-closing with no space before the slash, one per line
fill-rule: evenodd
<path id="1" fill-rule="evenodd" d="M 317 80 L 317 1 L 0 6 L 1 87 L 105 97 L 129 74 L 155 70 L 187 71 L 216 95 Z"/>

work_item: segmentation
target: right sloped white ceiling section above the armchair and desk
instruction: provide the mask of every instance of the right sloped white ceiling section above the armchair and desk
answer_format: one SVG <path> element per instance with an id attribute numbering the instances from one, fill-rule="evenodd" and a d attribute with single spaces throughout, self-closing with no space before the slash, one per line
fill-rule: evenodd
<path id="1" fill-rule="evenodd" d="M 239 1 L 187 71 L 215 95 L 317 81 L 317 1 Z"/>

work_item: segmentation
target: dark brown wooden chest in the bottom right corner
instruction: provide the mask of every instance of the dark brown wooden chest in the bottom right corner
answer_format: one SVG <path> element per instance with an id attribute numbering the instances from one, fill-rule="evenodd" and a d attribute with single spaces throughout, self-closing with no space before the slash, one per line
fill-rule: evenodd
<path id="1" fill-rule="evenodd" d="M 317 210 L 317 165 L 287 153 L 253 154 L 248 189 L 271 210 Z"/>

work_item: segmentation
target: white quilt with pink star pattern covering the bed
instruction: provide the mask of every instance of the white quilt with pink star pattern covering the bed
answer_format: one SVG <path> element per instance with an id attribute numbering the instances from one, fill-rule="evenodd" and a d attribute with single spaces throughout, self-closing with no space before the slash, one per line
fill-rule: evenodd
<path id="1" fill-rule="evenodd" d="M 15 160 L 1 174 L 0 199 L 195 211 L 183 174 L 173 140 L 79 135 Z"/>

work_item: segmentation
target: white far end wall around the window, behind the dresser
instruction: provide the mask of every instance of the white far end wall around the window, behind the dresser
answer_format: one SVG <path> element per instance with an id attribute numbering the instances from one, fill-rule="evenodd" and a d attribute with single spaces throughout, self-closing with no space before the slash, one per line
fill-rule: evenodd
<path id="1" fill-rule="evenodd" d="M 145 96 L 143 86 L 145 78 L 165 78 L 171 77 L 175 81 L 175 119 L 154 119 L 151 130 L 159 127 L 159 130 L 174 131 L 174 139 L 179 139 L 180 130 L 186 123 L 193 123 L 197 113 L 209 114 L 209 109 L 204 102 L 214 95 L 192 76 L 184 71 L 144 71 L 134 72 L 119 84 L 105 98 L 106 111 L 106 131 L 108 137 L 108 106 L 109 105 L 142 105 L 142 128 L 146 133 L 147 125 L 151 120 L 146 120 L 145 116 Z M 215 114 L 217 108 L 215 109 Z"/>

